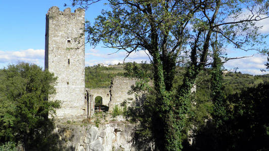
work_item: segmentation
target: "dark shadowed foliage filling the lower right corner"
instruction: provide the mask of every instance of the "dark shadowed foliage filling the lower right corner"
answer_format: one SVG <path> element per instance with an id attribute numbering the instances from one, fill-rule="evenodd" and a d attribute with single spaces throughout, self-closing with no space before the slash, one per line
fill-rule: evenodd
<path id="1" fill-rule="evenodd" d="M 268 94 L 266 83 L 227 96 L 226 118 L 221 125 L 208 121 L 191 150 L 268 150 Z"/>

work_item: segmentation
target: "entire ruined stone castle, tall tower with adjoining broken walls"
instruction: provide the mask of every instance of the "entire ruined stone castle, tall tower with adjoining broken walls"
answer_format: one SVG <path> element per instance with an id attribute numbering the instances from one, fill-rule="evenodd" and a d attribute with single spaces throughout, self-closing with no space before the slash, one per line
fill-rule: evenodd
<path id="1" fill-rule="evenodd" d="M 127 94 L 136 79 L 116 77 L 110 88 L 85 89 L 84 16 L 83 9 L 71 13 L 70 8 L 61 12 L 58 7 L 50 8 L 46 15 L 45 68 L 58 77 L 56 94 L 49 101 L 61 101 L 56 118 L 62 120 L 93 117 L 97 96 L 109 112 L 129 98 L 136 99 Z"/>

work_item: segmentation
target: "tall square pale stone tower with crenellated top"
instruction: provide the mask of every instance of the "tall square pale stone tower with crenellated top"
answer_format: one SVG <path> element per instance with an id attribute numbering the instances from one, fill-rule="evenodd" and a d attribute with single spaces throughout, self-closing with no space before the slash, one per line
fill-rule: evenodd
<path id="1" fill-rule="evenodd" d="M 46 15 L 45 68 L 57 79 L 56 95 L 49 100 L 60 100 L 57 118 L 80 120 L 85 111 L 85 12 L 76 9 L 71 13 L 58 7 L 49 9 Z"/>

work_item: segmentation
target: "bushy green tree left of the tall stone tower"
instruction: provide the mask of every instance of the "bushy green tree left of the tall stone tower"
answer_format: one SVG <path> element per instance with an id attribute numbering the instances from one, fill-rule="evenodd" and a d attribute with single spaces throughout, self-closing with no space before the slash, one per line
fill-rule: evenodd
<path id="1" fill-rule="evenodd" d="M 0 70 L 0 143 L 22 143 L 26 150 L 56 149 L 53 119 L 59 101 L 48 101 L 57 78 L 28 63 Z"/>

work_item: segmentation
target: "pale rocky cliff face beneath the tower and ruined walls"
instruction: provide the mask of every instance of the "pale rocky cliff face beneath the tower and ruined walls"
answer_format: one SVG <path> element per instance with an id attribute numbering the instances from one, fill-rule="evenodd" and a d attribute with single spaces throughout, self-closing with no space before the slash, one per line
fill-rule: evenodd
<path id="1" fill-rule="evenodd" d="M 94 125 L 57 125 L 55 132 L 66 150 L 76 151 L 111 151 L 138 150 L 133 145 L 132 132 L 135 126 L 124 123 L 109 123 L 96 127 Z"/>

